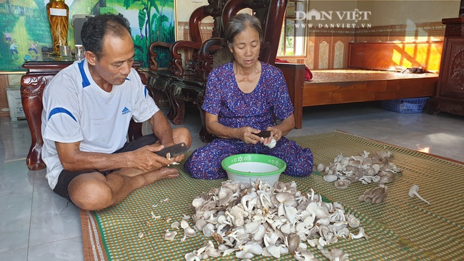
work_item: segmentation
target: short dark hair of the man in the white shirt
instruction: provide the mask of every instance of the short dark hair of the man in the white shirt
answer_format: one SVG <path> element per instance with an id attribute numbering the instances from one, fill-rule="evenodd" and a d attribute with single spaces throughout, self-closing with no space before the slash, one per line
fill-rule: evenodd
<path id="1" fill-rule="evenodd" d="M 131 34 L 129 21 L 122 14 L 99 14 L 87 17 L 81 29 L 82 45 L 86 51 L 95 53 L 101 58 L 101 48 L 106 35 L 123 37 L 126 32 Z"/>

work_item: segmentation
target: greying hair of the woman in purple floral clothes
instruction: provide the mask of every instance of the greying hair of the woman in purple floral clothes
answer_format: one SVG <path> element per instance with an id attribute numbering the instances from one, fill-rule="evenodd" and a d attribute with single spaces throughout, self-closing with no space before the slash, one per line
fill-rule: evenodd
<path id="1" fill-rule="evenodd" d="M 245 31 L 248 26 L 258 32 L 259 42 L 263 44 L 263 28 L 261 27 L 261 21 L 251 14 L 237 14 L 229 20 L 227 24 L 226 40 L 228 41 L 228 45 L 232 46 L 233 40 L 237 34 Z"/>

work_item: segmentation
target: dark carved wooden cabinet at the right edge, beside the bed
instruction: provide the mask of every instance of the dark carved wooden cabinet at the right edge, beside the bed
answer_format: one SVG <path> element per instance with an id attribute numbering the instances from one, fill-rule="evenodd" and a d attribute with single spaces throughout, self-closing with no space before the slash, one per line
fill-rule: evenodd
<path id="1" fill-rule="evenodd" d="M 446 26 L 445 41 L 437 93 L 429 101 L 429 113 L 464 115 L 464 17 L 442 22 Z"/>

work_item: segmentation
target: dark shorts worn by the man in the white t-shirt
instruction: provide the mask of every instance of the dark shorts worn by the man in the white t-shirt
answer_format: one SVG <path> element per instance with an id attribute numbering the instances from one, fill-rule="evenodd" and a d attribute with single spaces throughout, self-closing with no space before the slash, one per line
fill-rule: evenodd
<path id="1" fill-rule="evenodd" d="M 138 148 L 142 148 L 143 146 L 156 143 L 157 140 L 158 139 L 156 138 L 154 134 L 144 135 L 136 140 L 133 140 L 129 143 L 124 144 L 123 148 L 116 150 L 114 153 L 123 153 L 127 151 L 133 151 Z M 56 183 L 56 186 L 53 191 L 54 193 L 61 195 L 61 197 L 67 198 L 69 201 L 72 202 L 71 198 L 69 198 L 68 187 L 71 181 L 74 180 L 74 178 L 84 173 L 94 173 L 94 172 L 99 172 L 101 173 L 101 175 L 106 176 L 109 173 L 112 173 L 113 171 L 114 170 L 106 170 L 106 171 L 99 171 L 99 170 L 67 171 L 67 170 L 63 170 L 61 171 L 58 177 L 58 183 Z"/>

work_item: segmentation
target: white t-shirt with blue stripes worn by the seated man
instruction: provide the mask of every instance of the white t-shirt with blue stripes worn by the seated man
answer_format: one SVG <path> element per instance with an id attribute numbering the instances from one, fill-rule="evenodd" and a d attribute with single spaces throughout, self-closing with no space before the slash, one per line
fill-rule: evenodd
<path id="1" fill-rule="evenodd" d="M 80 141 L 81 151 L 113 153 L 126 143 L 133 118 L 140 123 L 159 111 L 136 70 L 107 93 L 96 85 L 86 59 L 61 70 L 44 89 L 42 97 L 42 159 L 51 189 L 63 166 L 55 141 Z"/>

